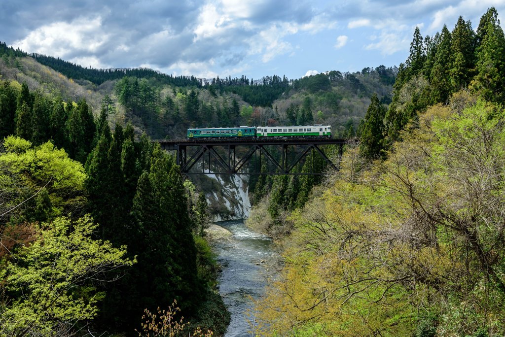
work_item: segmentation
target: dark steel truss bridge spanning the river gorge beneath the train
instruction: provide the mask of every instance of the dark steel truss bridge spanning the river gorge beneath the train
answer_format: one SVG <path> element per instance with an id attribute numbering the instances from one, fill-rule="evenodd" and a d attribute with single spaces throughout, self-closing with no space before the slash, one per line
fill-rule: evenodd
<path id="1" fill-rule="evenodd" d="M 226 138 L 193 140 L 158 140 L 163 150 L 177 151 L 177 164 L 185 175 L 322 175 L 295 172 L 295 168 L 310 152 L 319 153 L 329 167 L 337 165 L 320 146 L 337 145 L 339 155 L 347 139 L 333 138 Z M 298 151 L 295 151 L 298 148 Z M 277 149 L 277 151 L 275 151 Z M 278 153 L 281 153 L 280 158 Z M 275 158 L 273 153 L 277 153 Z M 247 162 L 254 160 L 254 171 L 243 172 Z M 271 164 L 269 172 L 261 172 L 262 158 Z M 314 155 L 312 156 L 314 158 Z M 314 167 L 314 163 L 312 165 Z"/>

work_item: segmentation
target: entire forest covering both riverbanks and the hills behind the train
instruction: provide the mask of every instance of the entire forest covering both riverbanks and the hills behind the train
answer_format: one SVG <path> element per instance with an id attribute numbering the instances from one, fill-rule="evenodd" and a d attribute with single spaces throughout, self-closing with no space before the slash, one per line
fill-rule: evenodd
<path id="1" fill-rule="evenodd" d="M 398 68 L 295 80 L 86 69 L 1 43 L 0 335 L 163 334 L 182 316 L 185 335 L 223 333 L 206 191 L 150 139 L 305 123 L 349 144 L 327 149 L 338 172 L 249 181 L 247 223 L 284 260 L 256 332 L 504 335 L 504 54 L 494 8 L 475 30 L 416 28 Z M 327 171 L 317 154 L 299 170 Z"/>

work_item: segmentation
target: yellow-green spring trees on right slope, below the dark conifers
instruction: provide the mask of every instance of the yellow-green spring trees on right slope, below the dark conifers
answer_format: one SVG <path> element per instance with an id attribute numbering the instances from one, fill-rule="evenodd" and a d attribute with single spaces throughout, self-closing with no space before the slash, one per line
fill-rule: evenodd
<path id="1" fill-rule="evenodd" d="M 357 171 L 348 149 L 291 214 L 260 335 L 505 333 L 505 113 L 451 104 L 430 107 L 378 165 Z"/>

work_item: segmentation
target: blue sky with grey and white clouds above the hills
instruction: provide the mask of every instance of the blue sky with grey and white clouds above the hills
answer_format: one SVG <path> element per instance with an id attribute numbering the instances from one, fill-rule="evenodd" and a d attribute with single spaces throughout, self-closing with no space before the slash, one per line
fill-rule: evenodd
<path id="1" fill-rule="evenodd" d="M 0 0 L 0 41 L 93 68 L 289 79 L 398 66 L 414 29 L 477 28 L 505 0 Z"/>

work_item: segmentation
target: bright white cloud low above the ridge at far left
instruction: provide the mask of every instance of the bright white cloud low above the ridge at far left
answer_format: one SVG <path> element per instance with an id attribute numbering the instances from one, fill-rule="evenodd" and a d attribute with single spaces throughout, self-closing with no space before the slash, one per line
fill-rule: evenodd
<path id="1" fill-rule="evenodd" d="M 71 23 L 55 22 L 30 32 L 13 43 L 28 52 L 64 58 L 75 50 L 95 52 L 109 40 L 102 30 L 102 18 L 78 18 Z"/>

